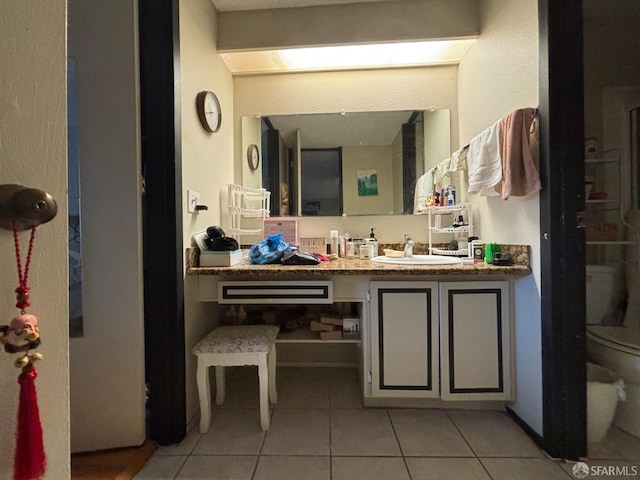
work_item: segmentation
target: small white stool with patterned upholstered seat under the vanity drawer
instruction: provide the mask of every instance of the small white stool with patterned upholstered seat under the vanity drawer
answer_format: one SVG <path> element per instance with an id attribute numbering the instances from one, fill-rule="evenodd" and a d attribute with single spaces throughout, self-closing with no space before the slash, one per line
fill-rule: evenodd
<path id="1" fill-rule="evenodd" d="M 216 367 L 216 404 L 224 403 L 224 367 L 257 365 L 260 382 L 260 424 L 269 430 L 269 398 L 277 403 L 276 336 L 274 325 L 238 325 L 218 327 L 193 347 L 198 357 L 198 396 L 200 433 L 211 426 L 211 387 L 209 367 Z"/>

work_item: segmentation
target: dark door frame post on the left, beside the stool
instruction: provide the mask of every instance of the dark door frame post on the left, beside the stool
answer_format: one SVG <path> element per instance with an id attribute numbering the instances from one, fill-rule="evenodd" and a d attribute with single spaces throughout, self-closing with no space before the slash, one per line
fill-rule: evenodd
<path id="1" fill-rule="evenodd" d="M 147 437 L 186 435 L 178 0 L 138 0 Z"/>

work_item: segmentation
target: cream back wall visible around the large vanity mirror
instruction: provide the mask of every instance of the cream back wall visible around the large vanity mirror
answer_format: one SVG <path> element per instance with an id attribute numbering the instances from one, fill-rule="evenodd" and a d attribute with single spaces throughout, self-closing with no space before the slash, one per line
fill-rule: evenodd
<path id="1" fill-rule="evenodd" d="M 282 115 L 346 111 L 428 110 L 451 111 L 452 146 L 457 145 L 458 91 L 455 66 L 366 70 L 351 72 L 256 75 L 234 78 L 234 125 L 240 132 L 243 115 Z M 235 138 L 235 178 L 242 179 L 241 135 Z M 348 225 L 348 228 L 347 228 Z M 298 218 L 302 235 L 329 235 L 348 230 L 354 237 L 368 236 L 376 227 L 378 240 L 400 242 L 402 233 L 426 241 L 425 217 L 411 215 Z"/>

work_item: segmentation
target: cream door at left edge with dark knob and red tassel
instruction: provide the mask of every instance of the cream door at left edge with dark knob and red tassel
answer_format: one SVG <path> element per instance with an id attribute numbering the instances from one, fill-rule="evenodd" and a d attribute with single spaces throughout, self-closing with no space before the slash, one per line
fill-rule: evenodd
<path id="1" fill-rule="evenodd" d="M 42 188 L 58 215 L 38 229 L 29 274 L 32 306 L 40 320 L 44 359 L 36 380 L 47 452 L 47 479 L 69 478 L 67 306 L 67 133 L 65 2 L 7 0 L 0 7 L 0 158 L 2 183 Z M 20 237 L 23 249 L 28 241 Z M 12 234 L 0 230 L 0 310 L 6 324 L 18 311 Z M 24 258 L 24 257 L 23 257 Z M 19 370 L 0 351 L 0 478 L 13 478 Z"/>

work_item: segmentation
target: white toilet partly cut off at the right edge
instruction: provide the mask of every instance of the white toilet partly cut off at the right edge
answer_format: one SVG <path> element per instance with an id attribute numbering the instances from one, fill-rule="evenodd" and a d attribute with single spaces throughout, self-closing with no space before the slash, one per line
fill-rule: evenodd
<path id="1" fill-rule="evenodd" d="M 618 428 L 640 437 L 640 290 L 637 267 L 630 268 L 627 273 L 630 295 L 624 322 L 621 326 L 607 326 L 602 323 L 611 322 L 611 302 L 617 294 L 616 269 L 610 265 L 587 265 L 587 357 L 622 378 L 626 400 L 618 402 L 614 422 Z M 609 398 L 609 402 L 612 401 Z M 601 400 L 597 399 L 592 405 L 600 403 Z"/>

